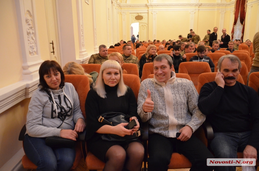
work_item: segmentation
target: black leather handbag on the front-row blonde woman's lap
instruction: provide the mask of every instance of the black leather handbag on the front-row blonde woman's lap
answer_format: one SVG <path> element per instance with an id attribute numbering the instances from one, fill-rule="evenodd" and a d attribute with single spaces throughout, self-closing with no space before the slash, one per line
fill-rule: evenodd
<path id="1" fill-rule="evenodd" d="M 118 113 L 118 112 L 106 112 L 98 116 L 98 121 L 105 125 L 116 126 L 121 123 L 129 123 L 126 120 L 126 118 L 130 118 L 130 116 L 125 115 L 123 113 Z M 133 135 L 126 135 L 124 137 L 118 136 L 115 134 L 100 134 L 100 135 L 101 135 L 101 139 L 106 141 L 129 142 L 129 141 L 137 140 L 141 135 L 141 131 L 138 130 Z"/>

